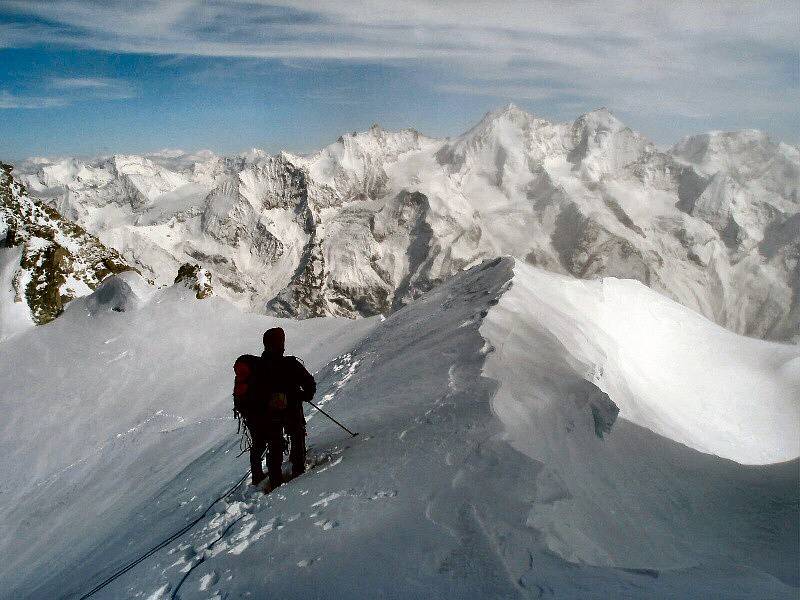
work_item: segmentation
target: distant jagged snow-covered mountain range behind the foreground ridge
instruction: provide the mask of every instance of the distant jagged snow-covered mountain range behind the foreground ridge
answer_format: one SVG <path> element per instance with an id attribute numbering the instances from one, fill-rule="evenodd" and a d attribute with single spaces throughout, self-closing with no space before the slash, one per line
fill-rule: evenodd
<path id="1" fill-rule="evenodd" d="M 513 105 L 464 135 L 373 126 L 310 156 L 115 156 L 21 165 L 33 193 L 161 283 L 189 261 L 284 316 L 403 306 L 510 254 L 633 278 L 740 333 L 796 339 L 800 152 L 756 131 L 659 151 L 608 110 Z"/>

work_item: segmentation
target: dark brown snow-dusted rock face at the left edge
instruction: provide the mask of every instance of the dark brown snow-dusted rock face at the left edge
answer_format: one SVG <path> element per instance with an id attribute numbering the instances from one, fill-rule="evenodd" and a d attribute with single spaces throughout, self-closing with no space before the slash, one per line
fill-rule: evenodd
<path id="1" fill-rule="evenodd" d="M 131 267 L 116 250 L 28 196 L 11 171 L 0 163 L 0 244 L 22 248 L 12 278 L 14 300 L 26 303 L 34 323 L 41 325 L 73 298 Z"/>

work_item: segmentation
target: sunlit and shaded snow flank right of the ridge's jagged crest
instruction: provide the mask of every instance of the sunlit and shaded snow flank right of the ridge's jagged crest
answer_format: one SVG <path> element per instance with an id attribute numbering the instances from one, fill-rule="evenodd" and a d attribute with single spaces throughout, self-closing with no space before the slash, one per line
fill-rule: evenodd
<path id="1" fill-rule="evenodd" d="M 797 477 L 797 348 L 732 334 L 637 282 L 515 271 L 481 328 L 496 348 L 484 374 L 501 382 L 493 408 L 507 439 L 545 465 L 528 523 L 547 547 L 655 569 L 728 548 L 767 572 L 796 571 L 797 489 L 768 501 L 761 486 Z M 618 422 L 602 439 L 581 435 L 603 392 Z M 758 556 L 773 519 L 790 533 Z"/>

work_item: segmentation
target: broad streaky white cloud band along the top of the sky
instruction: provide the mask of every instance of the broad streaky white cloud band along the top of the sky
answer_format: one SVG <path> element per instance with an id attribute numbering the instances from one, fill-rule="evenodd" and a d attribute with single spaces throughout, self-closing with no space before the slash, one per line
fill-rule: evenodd
<path id="1" fill-rule="evenodd" d="M 0 27 L 0 45 L 423 65 L 446 73 L 434 86 L 449 93 L 531 101 L 568 95 L 683 116 L 797 110 L 796 0 L 10 0 L 4 6 L 29 20 Z"/>

